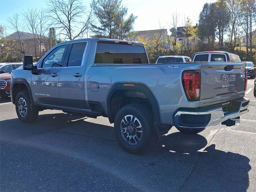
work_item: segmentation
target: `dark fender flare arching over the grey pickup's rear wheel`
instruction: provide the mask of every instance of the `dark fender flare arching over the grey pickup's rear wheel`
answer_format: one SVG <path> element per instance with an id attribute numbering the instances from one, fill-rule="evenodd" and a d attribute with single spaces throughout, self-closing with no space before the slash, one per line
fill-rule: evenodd
<path id="1" fill-rule="evenodd" d="M 141 91 L 143 92 L 148 100 L 150 101 L 150 104 L 152 106 L 153 115 L 154 115 L 154 122 L 160 122 L 160 113 L 159 113 L 159 107 L 158 102 L 156 101 L 156 98 L 152 94 L 152 92 L 143 84 L 134 84 L 134 86 L 124 86 L 126 83 L 118 83 L 112 86 L 110 91 L 108 92 L 107 96 L 107 112 L 108 112 L 108 119 L 110 123 L 114 122 L 114 119 L 111 115 L 111 100 L 114 96 L 114 93 L 118 90 L 134 90 L 134 91 Z"/>

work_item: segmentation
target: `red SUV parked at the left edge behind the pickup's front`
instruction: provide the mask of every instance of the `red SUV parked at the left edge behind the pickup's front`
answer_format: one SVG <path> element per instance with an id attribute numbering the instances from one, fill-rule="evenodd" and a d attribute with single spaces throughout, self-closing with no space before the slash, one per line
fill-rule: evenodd
<path id="1" fill-rule="evenodd" d="M 0 63 L 0 96 L 10 96 L 10 81 L 12 70 L 22 66 L 22 63 Z"/>

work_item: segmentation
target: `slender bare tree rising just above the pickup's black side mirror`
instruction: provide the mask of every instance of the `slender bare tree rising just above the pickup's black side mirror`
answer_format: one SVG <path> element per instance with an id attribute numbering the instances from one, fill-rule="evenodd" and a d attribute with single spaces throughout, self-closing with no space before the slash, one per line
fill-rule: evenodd
<path id="1" fill-rule="evenodd" d="M 32 33 L 32 37 L 34 40 L 34 50 L 35 50 L 35 57 L 37 60 L 37 51 L 36 51 L 36 44 L 37 44 L 37 35 L 36 35 L 36 26 L 37 26 L 37 10 L 36 8 L 28 8 L 26 11 L 23 10 L 22 12 L 24 16 L 24 23 L 26 25 L 27 30 Z"/>

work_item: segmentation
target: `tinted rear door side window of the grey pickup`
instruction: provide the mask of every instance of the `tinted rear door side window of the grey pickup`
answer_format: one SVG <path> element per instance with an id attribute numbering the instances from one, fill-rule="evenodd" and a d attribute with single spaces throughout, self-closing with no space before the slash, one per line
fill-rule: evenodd
<path id="1" fill-rule="evenodd" d="M 68 67 L 82 66 L 82 59 L 85 47 L 86 42 L 72 44 L 72 48 L 68 58 Z"/>

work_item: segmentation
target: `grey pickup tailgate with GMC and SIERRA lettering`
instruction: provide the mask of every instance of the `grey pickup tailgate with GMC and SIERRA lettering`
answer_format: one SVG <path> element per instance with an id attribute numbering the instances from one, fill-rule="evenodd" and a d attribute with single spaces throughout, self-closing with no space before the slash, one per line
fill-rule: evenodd
<path id="1" fill-rule="evenodd" d="M 202 62 L 200 106 L 244 97 L 244 63 Z"/>

